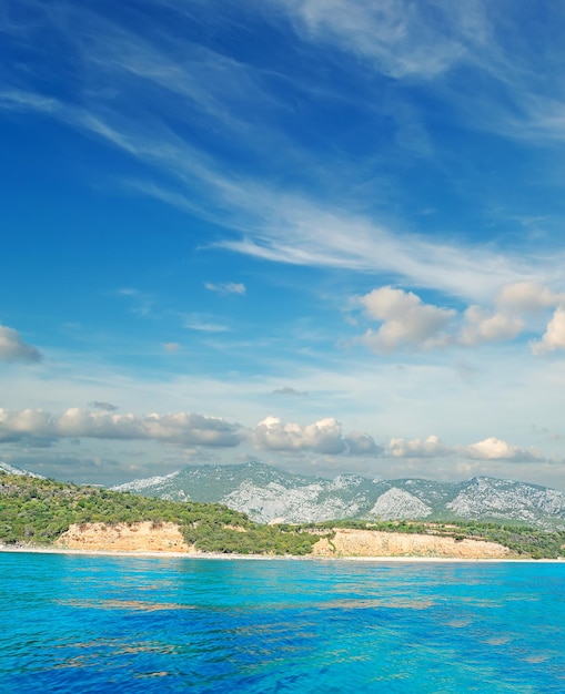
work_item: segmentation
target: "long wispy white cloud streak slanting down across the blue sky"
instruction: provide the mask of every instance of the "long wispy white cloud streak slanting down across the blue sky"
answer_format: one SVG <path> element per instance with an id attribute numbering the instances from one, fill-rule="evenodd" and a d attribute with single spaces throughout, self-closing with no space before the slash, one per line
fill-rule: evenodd
<path id="1" fill-rule="evenodd" d="M 42 100 L 26 92 L 19 102 L 34 109 Z M 543 274 L 552 261 L 558 263 L 556 257 L 529 262 L 485 248 L 431 242 L 347 210 L 329 210 L 326 201 L 285 193 L 264 181 L 235 178 L 221 162 L 180 140 L 164 124 L 145 124 L 141 116 L 129 121 L 119 104 L 108 104 L 103 112 L 98 112 L 99 105 L 89 112 L 64 103 L 53 112 L 39 105 L 37 110 L 94 133 L 176 181 L 168 190 L 138 183 L 135 187 L 143 193 L 214 222 L 229 218 L 230 226 L 244 234 L 240 239 L 216 242 L 215 247 L 278 263 L 393 273 L 418 286 L 474 299 L 487 297 L 519 276 Z M 201 201 L 196 207 L 195 200 Z"/>

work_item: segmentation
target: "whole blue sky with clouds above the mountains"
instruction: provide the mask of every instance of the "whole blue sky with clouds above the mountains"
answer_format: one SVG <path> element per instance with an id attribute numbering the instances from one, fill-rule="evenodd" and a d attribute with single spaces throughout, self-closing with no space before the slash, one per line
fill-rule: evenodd
<path id="1" fill-rule="evenodd" d="M 564 31 L 0 0 L 0 460 L 565 490 Z"/>

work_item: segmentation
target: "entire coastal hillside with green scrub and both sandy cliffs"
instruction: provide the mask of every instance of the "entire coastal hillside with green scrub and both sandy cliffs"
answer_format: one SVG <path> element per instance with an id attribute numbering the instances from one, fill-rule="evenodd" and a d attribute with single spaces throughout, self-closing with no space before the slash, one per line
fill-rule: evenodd
<path id="1" fill-rule="evenodd" d="M 565 531 L 477 522 L 261 525 L 226 507 L 0 472 L 0 544 L 316 557 L 558 558 Z"/>

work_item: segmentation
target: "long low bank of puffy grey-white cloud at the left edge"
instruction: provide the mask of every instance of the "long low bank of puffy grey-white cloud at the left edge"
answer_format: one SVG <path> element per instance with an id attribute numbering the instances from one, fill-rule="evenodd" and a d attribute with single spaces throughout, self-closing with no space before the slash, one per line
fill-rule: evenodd
<path id="1" fill-rule="evenodd" d="M 41 409 L 0 409 L 0 440 L 28 437 L 152 439 L 182 446 L 215 447 L 238 446 L 242 438 L 238 425 L 191 412 L 138 417 L 73 407 L 56 417 Z"/>

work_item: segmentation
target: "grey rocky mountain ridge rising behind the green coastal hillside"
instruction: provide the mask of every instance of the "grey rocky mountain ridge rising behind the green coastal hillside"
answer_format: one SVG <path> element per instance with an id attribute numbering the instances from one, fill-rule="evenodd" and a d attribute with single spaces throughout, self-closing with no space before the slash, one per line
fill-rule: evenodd
<path id="1" fill-rule="evenodd" d="M 250 461 L 191 466 L 112 489 L 173 501 L 219 502 L 248 513 L 260 523 L 406 519 L 508 521 L 543 529 L 565 527 L 564 492 L 488 477 L 435 482 L 341 474 L 329 480 Z"/>

